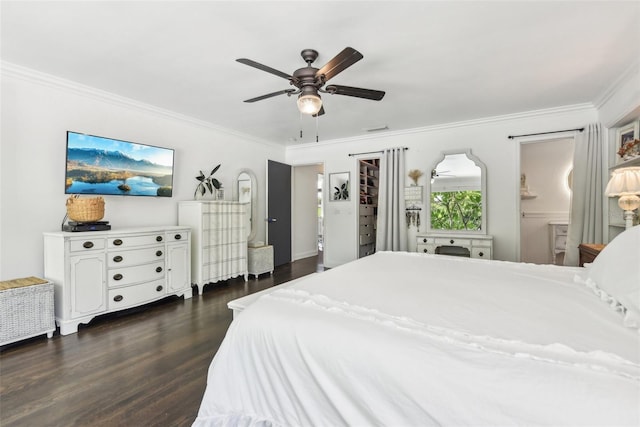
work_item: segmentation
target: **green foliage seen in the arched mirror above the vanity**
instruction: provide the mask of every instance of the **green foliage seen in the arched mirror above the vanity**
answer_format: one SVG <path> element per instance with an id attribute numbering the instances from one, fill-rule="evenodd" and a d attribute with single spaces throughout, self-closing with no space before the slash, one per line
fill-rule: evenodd
<path id="1" fill-rule="evenodd" d="M 437 230 L 480 230 L 482 192 L 431 193 L 431 228 Z"/>

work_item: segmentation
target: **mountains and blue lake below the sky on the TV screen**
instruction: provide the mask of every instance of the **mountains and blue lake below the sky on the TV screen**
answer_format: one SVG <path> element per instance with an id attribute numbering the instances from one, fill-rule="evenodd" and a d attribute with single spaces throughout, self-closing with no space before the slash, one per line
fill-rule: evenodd
<path id="1" fill-rule="evenodd" d="M 136 196 L 172 195 L 173 170 L 120 151 L 67 150 L 66 193 Z"/>

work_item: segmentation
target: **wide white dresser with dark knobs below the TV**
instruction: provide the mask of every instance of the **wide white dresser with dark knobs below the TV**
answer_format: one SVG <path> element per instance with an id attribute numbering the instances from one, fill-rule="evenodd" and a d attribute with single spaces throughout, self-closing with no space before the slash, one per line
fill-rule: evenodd
<path id="1" fill-rule="evenodd" d="M 44 233 L 60 334 L 168 295 L 191 298 L 189 242 L 189 228 L 178 226 Z"/>

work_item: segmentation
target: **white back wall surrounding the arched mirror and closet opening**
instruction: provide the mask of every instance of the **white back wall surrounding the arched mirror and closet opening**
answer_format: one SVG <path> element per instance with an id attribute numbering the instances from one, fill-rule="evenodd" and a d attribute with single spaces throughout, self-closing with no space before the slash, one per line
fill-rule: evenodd
<path id="1" fill-rule="evenodd" d="M 508 136 L 582 127 L 596 118 L 597 112 L 591 105 L 578 105 L 405 132 L 390 131 L 360 139 L 291 146 L 287 148 L 286 161 L 293 165 L 323 162 L 325 176 L 344 171 L 357 176 L 356 159 L 349 157 L 349 153 L 404 146 L 409 148 L 407 172 L 410 169 L 426 172 L 442 151 L 470 148 L 487 166 L 487 228 L 495 239 L 494 258 L 516 261 L 520 227 L 519 143 Z M 425 176 L 419 185 L 426 185 Z M 355 191 L 352 185 L 351 194 Z M 334 267 L 357 257 L 358 200 L 336 203 L 325 198 L 325 202 L 324 263 Z M 410 249 L 415 250 L 415 242 L 410 242 Z"/>

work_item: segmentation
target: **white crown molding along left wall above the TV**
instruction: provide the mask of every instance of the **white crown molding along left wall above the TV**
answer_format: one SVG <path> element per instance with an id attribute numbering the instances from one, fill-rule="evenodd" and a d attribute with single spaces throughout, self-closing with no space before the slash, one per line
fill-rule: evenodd
<path id="1" fill-rule="evenodd" d="M 72 80 L 63 79 L 61 77 L 54 76 L 52 74 L 43 73 L 31 68 L 23 67 L 21 65 L 13 64 L 6 61 L 0 62 L 0 73 L 2 77 L 10 77 L 27 81 L 29 83 L 40 84 L 48 86 L 54 89 L 62 90 L 64 92 L 73 93 L 75 95 L 91 98 L 97 101 L 109 103 L 118 107 L 124 107 L 132 110 L 143 111 L 145 113 L 151 113 L 156 116 L 160 116 L 167 119 L 177 120 L 190 125 L 199 126 L 217 132 L 232 135 L 241 139 L 249 140 L 259 144 L 267 145 L 271 148 L 282 149 L 282 145 L 267 141 L 265 139 L 256 138 L 252 135 L 237 132 L 232 129 L 215 125 L 214 123 L 206 120 L 196 119 L 184 114 L 176 113 L 171 110 L 166 110 L 146 104 L 144 102 L 137 101 L 135 99 L 127 98 L 121 95 L 117 95 L 112 92 L 107 92 L 101 89 L 97 89 L 91 86 L 83 85 Z"/>

